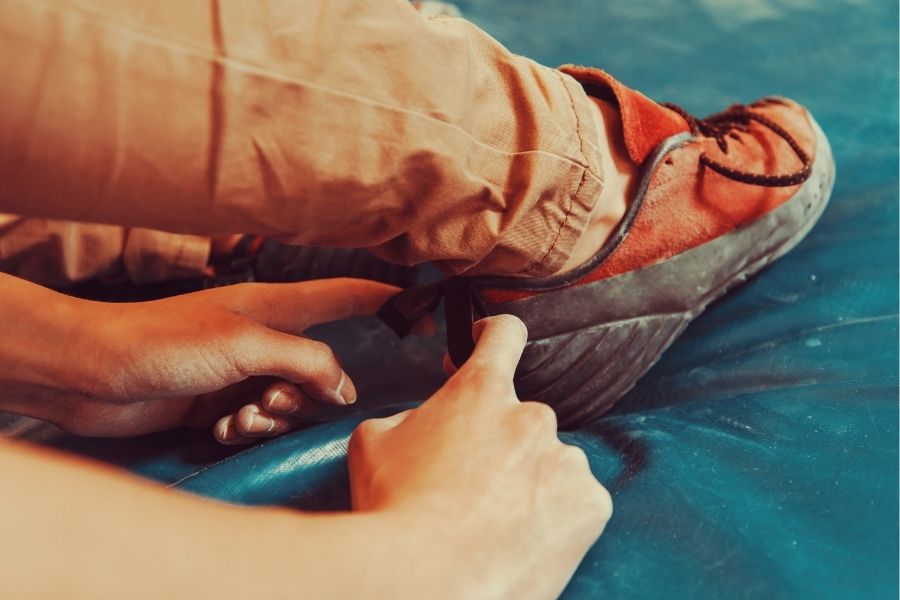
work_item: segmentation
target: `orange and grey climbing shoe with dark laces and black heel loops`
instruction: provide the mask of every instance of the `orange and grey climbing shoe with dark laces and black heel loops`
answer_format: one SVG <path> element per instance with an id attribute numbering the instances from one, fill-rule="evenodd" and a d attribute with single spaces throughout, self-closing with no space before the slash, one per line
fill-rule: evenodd
<path id="1" fill-rule="evenodd" d="M 565 427 L 608 410 L 710 302 L 799 243 L 831 194 L 834 161 L 822 130 L 791 100 L 698 119 L 603 71 L 562 71 L 618 107 L 628 155 L 641 165 L 618 228 L 565 274 L 451 278 L 400 294 L 382 316 L 402 330 L 443 295 L 459 365 L 472 350 L 473 320 L 517 315 L 529 330 L 517 393 L 550 404 Z"/>

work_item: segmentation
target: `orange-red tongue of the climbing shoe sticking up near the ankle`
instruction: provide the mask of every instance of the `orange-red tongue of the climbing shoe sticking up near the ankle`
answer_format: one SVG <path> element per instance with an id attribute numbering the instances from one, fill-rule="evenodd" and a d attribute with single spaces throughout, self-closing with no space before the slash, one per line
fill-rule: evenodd
<path id="1" fill-rule="evenodd" d="M 605 71 L 576 65 L 563 65 L 559 70 L 574 77 L 589 96 L 619 105 L 625 147 L 637 164 L 642 164 L 663 140 L 690 131 L 681 116 L 625 87 Z"/>

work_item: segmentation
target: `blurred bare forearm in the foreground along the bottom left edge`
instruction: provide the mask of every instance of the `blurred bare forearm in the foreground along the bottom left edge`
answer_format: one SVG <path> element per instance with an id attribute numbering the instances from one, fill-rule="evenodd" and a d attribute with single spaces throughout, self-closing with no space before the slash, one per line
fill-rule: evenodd
<path id="1" fill-rule="evenodd" d="M 0 573 L 22 597 L 387 597 L 424 584 L 447 589 L 425 572 L 449 562 L 437 557 L 435 540 L 394 517 L 219 504 L 9 443 L 0 443 L 0 472 L 15 482 L 0 494 Z"/>

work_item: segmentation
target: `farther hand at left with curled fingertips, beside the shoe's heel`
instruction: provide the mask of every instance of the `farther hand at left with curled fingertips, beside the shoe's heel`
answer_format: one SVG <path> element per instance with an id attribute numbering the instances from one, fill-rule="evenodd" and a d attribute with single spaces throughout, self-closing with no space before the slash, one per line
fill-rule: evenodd
<path id="1" fill-rule="evenodd" d="M 396 291 L 372 281 L 327 279 L 85 303 L 75 344 L 78 381 L 62 391 L 32 391 L 42 395 L 39 416 L 80 435 L 119 437 L 209 426 L 244 406 L 218 424 L 219 441 L 284 433 L 326 405 L 356 400 L 331 349 L 303 331 L 374 313 Z M 283 407 L 286 400 L 294 409 L 282 411 L 272 426 L 262 407 Z"/>

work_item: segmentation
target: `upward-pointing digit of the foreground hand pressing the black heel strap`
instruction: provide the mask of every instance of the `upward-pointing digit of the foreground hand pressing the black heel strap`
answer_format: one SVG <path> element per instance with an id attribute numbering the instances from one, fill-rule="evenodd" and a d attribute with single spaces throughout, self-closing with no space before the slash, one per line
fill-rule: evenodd
<path id="1" fill-rule="evenodd" d="M 525 323 L 513 315 L 497 315 L 472 326 L 475 350 L 461 370 L 487 369 L 512 380 L 528 341 Z"/>

